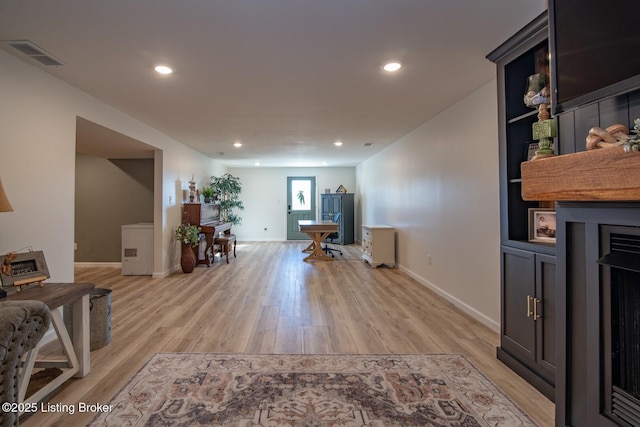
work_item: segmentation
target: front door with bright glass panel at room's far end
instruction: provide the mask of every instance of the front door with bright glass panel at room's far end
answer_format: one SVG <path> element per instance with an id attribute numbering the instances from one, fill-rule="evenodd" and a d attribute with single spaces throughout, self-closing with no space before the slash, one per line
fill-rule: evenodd
<path id="1" fill-rule="evenodd" d="M 287 178 L 287 240 L 309 240 L 298 229 L 298 220 L 316 219 L 315 177 Z"/>

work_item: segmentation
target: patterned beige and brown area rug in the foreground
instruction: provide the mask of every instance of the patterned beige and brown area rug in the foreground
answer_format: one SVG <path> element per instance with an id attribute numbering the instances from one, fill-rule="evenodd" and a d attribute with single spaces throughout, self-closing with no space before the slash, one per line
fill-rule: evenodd
<path id="1" fill-rule="evenodd" d="M 464 356 L 159 353 L 91 426 L 535 426 Z"/>

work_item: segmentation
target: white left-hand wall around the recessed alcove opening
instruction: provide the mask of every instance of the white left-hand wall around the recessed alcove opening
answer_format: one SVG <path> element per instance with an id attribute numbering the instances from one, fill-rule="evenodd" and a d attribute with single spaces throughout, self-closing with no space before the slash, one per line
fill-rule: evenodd
<path id="1" fill-rule="evenodd" d="M 224 168 L 104 102 L 0 51 L 0 177 L 14 212 L 0 213 L 0 253 L 43 250 L 51 281 L 73 280 L 76 117 L 157 147 L 154 275 L 179 265 L 172 232 L 180 188 Z M 171 197 L 172 203 L 169 202 Z M 98 225 L 97 225 L 98 226 Z"/>

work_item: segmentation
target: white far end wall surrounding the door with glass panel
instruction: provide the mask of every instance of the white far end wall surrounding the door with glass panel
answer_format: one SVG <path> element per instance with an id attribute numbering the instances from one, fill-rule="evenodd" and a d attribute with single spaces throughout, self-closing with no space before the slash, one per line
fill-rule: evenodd
<path id="1" fill-rule="evenodd" d="M 242 224 L 233 227 L 238 240 L 287 239 L 287 177 L 315 176 L 317 203 L 325 188 L 332 192 L 340 184 L 347 191 L 356 190 L 355 168 L 230 168 L 229 173 L 240 178 L 244 211 L 238 214 Z M 357 199 L 357 195 L 355 196 Z M 266 228 L 266 230 L 265 230 Z"/>

